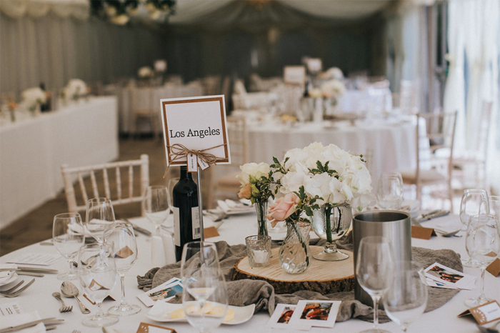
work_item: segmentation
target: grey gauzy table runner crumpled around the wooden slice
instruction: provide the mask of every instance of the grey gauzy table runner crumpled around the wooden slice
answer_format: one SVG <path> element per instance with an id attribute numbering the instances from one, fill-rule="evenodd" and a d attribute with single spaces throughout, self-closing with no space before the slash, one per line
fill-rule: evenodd
<path id="1" fill-rule="evenodd" d="M 352 233 L 346 235 L 343 239 L 336 242 L 341 249 L 352 251 Z M 311 245 L 324 246 L 323 240 L 313 239 Z M 231 281 L 234 265 L 242 257 L 246 256 L 246 247 L 244 244 L 229 246 L 224 241 L 216 242 L 217 252 L 221 270 L 226 277 L 229 304 L 237 307 L 244 307 L 249 304 L 256 304 L 255 312 L 264 310 L 269 314 L 274 312 L 276 304 L 296 304 L 301 299 L 320 299 L 320 300 L 339 300 L 342 301 L 337 322 L 344 322 L 350 318 L 357 318 L 373 322 L 373 308 L 362 304 L 354 299 L 354 290 L 351 292 L 337 292 L 334 294 L 320 294 L 309 290 L 301 290 L 293 294 L 275 294 L 271 284 L 261 280 L 244 279 Z M 459 254 L 447 249 L 431 250 L 420 247 L 412 247 L 412 259 L 416 264 L 428 267 L 434 262 L 439 262 L 447 267 L 463 272 Z M 139 287 L 147 289 L 157 287 L 172 277 L 181 276 L 181 263 L 169 264 L 161 268 L 149 270 L 144 277 L 137 277 Z M 429 288 L 429 298 L 426 312 L 432 311 L 446 304 L 454 295 L 459 292 L 457 289 L 438 289 Z M 171 299 L 171 303 L 181 303 L 182 297 L 176 295 Z M 385 312 L 379 311 L 379 322 L 388 322 L 389 318 Z"/>

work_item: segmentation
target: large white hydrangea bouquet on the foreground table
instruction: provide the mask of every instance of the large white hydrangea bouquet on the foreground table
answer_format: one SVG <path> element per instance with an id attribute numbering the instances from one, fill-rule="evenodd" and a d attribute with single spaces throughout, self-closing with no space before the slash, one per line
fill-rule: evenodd
<path id="1" fill-rule="evenodd" d="M 277 163 L 276 163 L 277 162 Z M 334 144 L 323 146 L 314 142 L 303 149 L 290 149 L 284 160 L 275 159 L 278 182 L 276 197 L 301 193 L 319 206 L 350 204 L 361 211 L 374 196 L 371 194 L 371 176 L 362 156 L 351 155 Z M 306 209 L 306 213 L 309 209 Z"/>

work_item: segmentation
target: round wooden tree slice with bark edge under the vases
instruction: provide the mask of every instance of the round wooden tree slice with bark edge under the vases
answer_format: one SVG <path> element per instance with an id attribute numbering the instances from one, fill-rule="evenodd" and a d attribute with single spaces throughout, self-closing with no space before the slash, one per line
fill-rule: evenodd
<path id="1" fill-rule="evenodd" d="M 324 247 L 311 247 L 313 254 L 323 251 Z M 249 258 L 244 257 L 234 265 L 233 280 L 264 280 L 274 287 L 276 294 L 291 294 L 299 290 L 311 290 L 321 294 L 349 292 L 354 289 L 354 259 L 352 252 L 349 258 L 341 262 L 321 262 L 312 259 L 311 266 L 301 274 L 286 273 L 279 266 L 279 248 L 272 249 L 271 263 L 266 267 L 250 267 Z"/>

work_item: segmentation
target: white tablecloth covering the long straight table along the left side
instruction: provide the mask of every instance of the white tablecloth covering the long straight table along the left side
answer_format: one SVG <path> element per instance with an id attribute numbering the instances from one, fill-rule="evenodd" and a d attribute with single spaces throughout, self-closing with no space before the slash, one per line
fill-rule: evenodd
<path id="1" fill-rule="evenodd" d="M 0 228 L 63 189 L 61 164 L 118 157 L 116 97 L 96 97 L 0 126 Z"/>

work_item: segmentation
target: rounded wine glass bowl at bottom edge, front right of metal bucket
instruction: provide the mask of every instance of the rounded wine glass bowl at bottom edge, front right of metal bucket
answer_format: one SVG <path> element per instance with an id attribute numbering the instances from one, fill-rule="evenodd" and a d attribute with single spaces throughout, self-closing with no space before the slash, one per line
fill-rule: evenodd
<path id="1" fill-rule="evenodd" d="M 384 310 L 403 332 L 426 308 L 427 285 L 421 272 L 396 269 L 391 286 L 384 294 Z"/>

